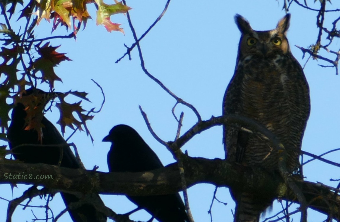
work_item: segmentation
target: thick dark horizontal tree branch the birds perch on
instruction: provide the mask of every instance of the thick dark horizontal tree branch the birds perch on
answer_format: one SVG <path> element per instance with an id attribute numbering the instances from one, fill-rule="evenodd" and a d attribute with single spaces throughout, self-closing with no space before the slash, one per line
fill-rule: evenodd
<path id="1" fill-rule="evenodd" d="M 218 187 L 256 190 L 258 193 L 272 193 L 285 200 L 297 202 L 294 192 L 281 177 L 261 170 L 233 165 L 221 159 L 191 158 L 184 156 L 185 179 L 188 187 L 199 183 L 215 184 Z M 182 189 L 181 177 L 176 163 L 149 172 L 103 173 L 68 169 L 45 164 L 2 163 L 0 184 L 35 184 L 63 192 L 98 192 L 101 194 L 150 195 L 175 193 Z M 254 173 L 256 172 L 256 173 Z M 7 174 L 6 174 L 7 173 Z M 12 179 L 9 174 L 12 174 Z M 18 175 L 32 174 L 32 178 L 18 178 Z M 51 175 L 50 179 L 35 179 L 36 175 Z M 13 178 L 16 175 L 16 178 Z M 271 181 L 271 183 L 268 183 Z M 320 184 L 302 181 L 294 182 L 301 187 L 308 207 L 340 220 L 340 196 Z"/>

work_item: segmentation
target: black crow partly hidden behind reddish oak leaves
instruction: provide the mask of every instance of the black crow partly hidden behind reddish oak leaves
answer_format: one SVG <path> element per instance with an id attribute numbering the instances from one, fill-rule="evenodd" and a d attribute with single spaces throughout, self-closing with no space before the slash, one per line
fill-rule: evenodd
<path id="1" fill-rule="evenodd" d="M 48 93 L 38 90 L 29 89 L 26 90 L 26 94 L 29 95 L 49 95 Z M 32 97 L 33 98 L 33 97 Z M 41 101 L 45 106 L 48 102 Z M 25 118 L 27 112 L 25 107 L 21 103 L 17 103 L 12 111 L 12 122 L 8 128 L 7 138 L 10 141 L 10 149 L 13 151 L 13 156 L 24 163 L 45 163 L 51 165 L 58 165 L 59 159 L 62 155 L 60 166 L 77 169 L 80 165 L 72 153 L 70 147 L 67 145 L 66 141 L 60 134 L 60 132 L 55 128 L 55 126 L 43 117 L 41 120 L 41 141 L 39 141 L 38 132 L 34 129 L 25 130 L 26 121 Z M 34 117 L 33 117 L 34 118 Z M 22 144 L 31 144 L 23 145 Z M 38 146 L 36 146 L 38 145 Z M 57 145 L 57 146 L 42 146 L 42 145 Z M 65 205 L 68 206 L 70 203 L 78 202 L 80 199 L 73 194 L 61 193 Z M 103 204 L 98 194 L 92 194 L 92 199 L 96 203 Z M 104 205 L 104 204 L 103 204 Z M 69 209 L 70 216 L 74 222 L 95 222 L 107 221 L 105 215 L 97 211 L 93 205 L 84 204 L 75 209 Z"/>

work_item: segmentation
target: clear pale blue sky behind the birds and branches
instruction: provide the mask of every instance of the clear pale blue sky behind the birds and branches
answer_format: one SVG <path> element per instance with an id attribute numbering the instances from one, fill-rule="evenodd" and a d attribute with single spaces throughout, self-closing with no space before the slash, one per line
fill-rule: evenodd
<path id="1" fill-rule="evenodd" d="M 165 0 L 140 1 L 129 0 L 128 5 L 133 25 L 137 35 L 140 36 L 149 28 L 157 16 L 162 12 Z M 171 1 L 168 11 L 157 23 L 152 31 L 140 42 L 146 68 L 156 78 L 161 80 L 173 93 L 194 105 L 200 112 L 203 120 L 212 115 L 222 114 L 222 98 L 228 82 L 235 68 L 237 48 L 240 32 L 234 23 L 236 13 L 250 21 L 255 30 L 270 30 L 276 27 L 280 18 L 285 15 L 282 11 L 282 2 L 275 0 L 258 1 Z M 320 8 L 317 1 L 307 1 L 310 7 Z M 25 1 L 27 4 L 27 1 Z M 113 3 L 107 0 L 106 3 Z M 327 3 L 326 9 L 339 8 L 339 1 Z M 331 8 L 332 7 L 332 8 Z M 175 138 L 177 122 L 172 116 L 171 109 L 175 100 L 162 90 L 155 82 L 148 78 L 140 68 L 137 49 L 135 48 L 129 61 L 124 58 L 118 64 L 126 48 L 123 44 L 131 46 L 134 42 L 126 17 L 122 14 L 112 16 L 113 22 L 122 23 L 125 35 L 119 32 L 108 33 L 103 26 L 96 26 L 95 7 L 88 5 L 90 15 L 85 30 L 77 34 L 74 39 L 56 39 L 51 41 L 52 46 L 61 45 L 57 52 L 67 53 L 71 62 L 62 62 L 55 73 L 62 78 L 63 83 L 56 82 L 55 89 L 59 92 L 68 90 L 86 91 L 92 103 L 84 101 L 82 105 L 87 108 L 97 107 L 102 103 L 100 89 L 91 81 L 93 78 L 103 88 L 106 101 L 102 111 L 95 115 L 93 121 L 88 122 L 88 128 L 95 139 L 91 140 L 85 132 L 76 133 L 69 142 L 74 142 L 80 157 L 87 169 L 94 165 L 99 171 L 107 172 L 106 156 L 110 143 L 101 142 L 108 131 L 117 124 L 127 124 L 135 128 L 142 138 L 152 147 L 164 165 L 174 162 L 172 155 L 166 147 L 159 144 L 150 134 L 140 114 L 140 105 L 149 117 L 151 126 L 157 135 L 165 140 Z M 291 51 L 295 58 L 304 65 L 307 58 L 302 59 L 302 52 L 294 45 L 308 47 L 315 44 L 318 30 L 316 29 L 317 12 L 311 12 L 292 4 L 289 11 L 291 16 L 288 39 Z M 329 14 L 330 16 L 331 14 Z M 16 14 L 15 16 L 18 16 Z M 331 22 L 333 17 L 326 17 L 325 22 Z M 3 19 L 3 17 L 1 17 Z M 332 20 L 333 19 L 333 20 Z M 4 21 L 0 20 L 4 23 Z M 17 23 L 19 24 L 19 23 Z M 18 28 L 18 27 L 17 27 Z M 49 36 L 51 24 L 41 21 L 35 35 L 37 38 Z M 53 35 L 68 34 L 64 28 L 59 28 Z M 335 40 L 339 50 L 339 41 Z M 334 68 L 321 68 L 317 64 L 328 65 L 324 62 L 310 59 L 304 72 L 310 86 L 311 114 L 303 140 L 302 149 L 314 154 L 322 154 L 327 150 L 339 148 L 339 76 L 335 75 Z M 47 89 L 46 84 L 39 86 Z M 69 96 L 70 97 L 70 96 Z M 70 102 L 79 101 L 70 98 Z M 182 133 L 197 122 L 191 110 L 179 105 L 175 113 L 177 116 L 184 112 Z M 59 112 L 56 108 L 46 114 L 51 122 L 56 123 Z M 60 129 L 59 126 L 57 126 Z M 72 133 L 67 129 L 65 138 Z M 205 158 L 223 158 L 222 127 L 213 127 L 195 136 L 182 148 L 187 150 L 189 156 Z M 326 155 L 325 158 L 339 162 L 340 153 Z M 308 158 L 307 158 L 308 159 Z M 306 160 L 306 158 L 305 158 Z M 339 169 L 320 161 L 313 161 L 304 166 L 304 175 L 308 181 L 319 181 L 336 187 L 337 182 L 329 179 L 339 177 Z M 9 185 L 0 186 L 0 195 L 6 199 L 18 197 L 30 186 L 18 185 L 13 196 Z M 190 207 L 196 222 L 210 221 L 209 206 L 215 186 L 198 184 L 188 189 Z M 135 208 L 125 196 L 101 195 L 106 206 L 117 213 L 125 213 Z M 232 212 L 235 204 L 229 195 L 228 188 L 219 188 L 217 198 L 227 205 L 214 202 L 212 219 L 214 222 L 232 221 Z M 43 205 L 45 201 L 34 198 L 30 205 Z M 284 203 L 285 204 L 285 203 Z M 59 194 L 50 204 L 56 216 L 64 209 L 64 203 Z M 298 205 L 294 205 L 291 211 Z M 14 222 L 30 221 L 34 214 L 39 218 L 45 217 L 44 208 L 29 208 L 22 210 L 18 207 L 13 216 Z M 7 202 L 0 200 L 0 221 L 5 220 Z M 274 201 L 272 213 L 280 209 L 280 203 Z M 267 216 L 272 215 L 267 213 Z M 131 217 L 133 220 L 147 221 L 150 215 L 145 211 L 138 211 Z M 300 215 L 294 217 L 299 221 Z M 325 215 L 308 210 L 308 221 L 323 221 Z M 59 221 L 69 222 L 66 213 Z M 111 221 L 111 220 L 108 220 Z"/>

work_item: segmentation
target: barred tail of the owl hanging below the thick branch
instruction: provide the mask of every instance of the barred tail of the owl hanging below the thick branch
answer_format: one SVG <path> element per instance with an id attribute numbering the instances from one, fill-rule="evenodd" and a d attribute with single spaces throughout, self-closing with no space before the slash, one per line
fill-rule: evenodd
<path id="1" fill-rule="evenodd" d="M 236 198 L 234 222 L 259 222 L 261 213 L 272 203 L 272 198 L 243 192 Z"/>

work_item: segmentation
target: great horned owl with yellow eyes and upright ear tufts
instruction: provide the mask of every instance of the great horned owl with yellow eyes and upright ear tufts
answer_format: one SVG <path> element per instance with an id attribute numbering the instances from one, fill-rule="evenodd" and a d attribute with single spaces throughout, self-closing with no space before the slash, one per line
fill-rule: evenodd
<path id="1" fill-rule="evenodd" d="M 286 37 L 290 14 L 276 29 L 255 31 L 242 16 L 235 73 L 223 98 L 223 114 L 256 120 L 271 130 L 288 152 L 289 172 L 299 168 L 299 150 L 310 112 L 309 87 L 301 65 L 293 57 Z M 226 159 L 277 172 L 277 151 L 270 141 L 239 127 L 223 126 Z M 236 222 L 257 222 L 275 197 L 231 190 Z"/>

